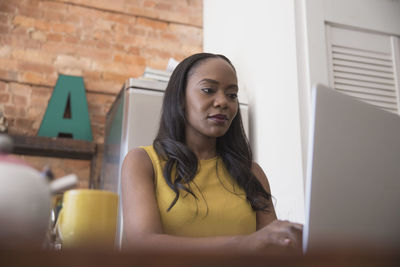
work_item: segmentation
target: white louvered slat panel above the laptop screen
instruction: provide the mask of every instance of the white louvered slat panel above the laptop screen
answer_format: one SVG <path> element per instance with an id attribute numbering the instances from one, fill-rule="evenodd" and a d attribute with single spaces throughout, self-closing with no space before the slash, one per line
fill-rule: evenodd
<path id="1" fill-rule="evenodd" d="M 398 113 L 395 67 L 389 36 L 330 26 L 331 86 Z"/>

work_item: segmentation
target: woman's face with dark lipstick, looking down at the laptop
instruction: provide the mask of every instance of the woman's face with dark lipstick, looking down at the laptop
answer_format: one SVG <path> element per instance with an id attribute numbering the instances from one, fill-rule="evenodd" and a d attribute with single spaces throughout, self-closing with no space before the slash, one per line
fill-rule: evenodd
<path id="1" fill-rule="evenodd" d="M 209 58 L 189 72 L 186 85 L 186 138 L 223 136 L 238 111 L 236 73 L 221 58 Z"/>

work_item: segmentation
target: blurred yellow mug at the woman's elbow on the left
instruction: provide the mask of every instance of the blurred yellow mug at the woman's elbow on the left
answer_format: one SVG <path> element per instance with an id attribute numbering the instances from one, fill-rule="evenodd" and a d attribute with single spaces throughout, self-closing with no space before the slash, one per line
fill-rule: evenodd
<path id="1" fill-rule="evenodd" d="M 117 214 L 118 195 L 113 192 L 66 191 L 57 220 L 62 248 L 114 248 Z"/>

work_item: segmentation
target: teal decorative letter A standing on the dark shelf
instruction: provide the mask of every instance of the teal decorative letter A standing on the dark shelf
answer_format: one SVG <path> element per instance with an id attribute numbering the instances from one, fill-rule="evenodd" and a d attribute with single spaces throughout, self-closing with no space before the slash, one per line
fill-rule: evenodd
<path id="1" fill-rule="evenodd" d="M 93 140 L 82 77 L 59 75 L 38 135 Z"/>

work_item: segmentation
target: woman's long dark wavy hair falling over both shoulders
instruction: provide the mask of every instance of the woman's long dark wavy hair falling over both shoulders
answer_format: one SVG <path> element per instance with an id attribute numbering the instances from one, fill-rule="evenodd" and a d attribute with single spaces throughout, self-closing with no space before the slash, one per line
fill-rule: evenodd
<path id="1" fill-rule="evenodd" d="M 185 142 L 185 92 L 191 70 L 209 58 L 221 58 L 235 70 L 231 61 L 223 55 L 194 54 L 184 59 L 175 68 L 165 90 L 160 128 L 153 146 L 157 154 L 166 160 L 163 175 L 168 186 L 175 192 L 175 198 L 168 211 L 178 201 L 180 191 L 185 191 L 197 199 L 190 189 L 190 182 L 193 181 L 197 172 L 198 159 Z M 216 150 L 232 178 L 246 192 L 247 200 L 253 210 L 268 211 L 271 195 L 266 192 L 251 171 L 253 156 L 243 129 L 239 108 L 228 131 L 217 138 Z M 176 168 L 175 177 L 171 177 L 174 167 Z"/>

